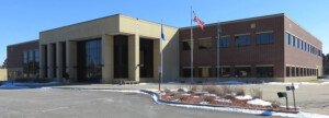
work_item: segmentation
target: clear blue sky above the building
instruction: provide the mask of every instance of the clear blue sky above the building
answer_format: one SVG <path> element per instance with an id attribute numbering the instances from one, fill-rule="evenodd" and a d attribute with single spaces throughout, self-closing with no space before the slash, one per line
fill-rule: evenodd
<path id="1" fill-rule="evenodd" d="M 8 45 L 37 39 L 41 31 L 116 13 L 184 27 L 191 5 L 205 23 L 286 13 L 329 52 L 329 0 L 2 0 L 0 64 Z"/>

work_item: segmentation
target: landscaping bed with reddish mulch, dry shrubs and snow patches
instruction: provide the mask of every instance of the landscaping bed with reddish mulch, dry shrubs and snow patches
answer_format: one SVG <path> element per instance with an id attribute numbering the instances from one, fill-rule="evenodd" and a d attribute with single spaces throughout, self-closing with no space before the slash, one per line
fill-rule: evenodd
<path id="1" fill-rule="evenodd" d="M 298 110 L 295 110 L 294 108 L 286 109 L 286 107 L 281 106 L 281 103 L 277 101 L 263 101 L 262 91 L 260 88 L 251 88 L 249 91 L 251 95 L 246 95 L 246 91 L 242 87 L 205 85 L 198 88 L 196 86 L 166 88 L 164 91 L 161 91 L 159 96 L 161 101 L 173 103 L 280 111 Z"/>

